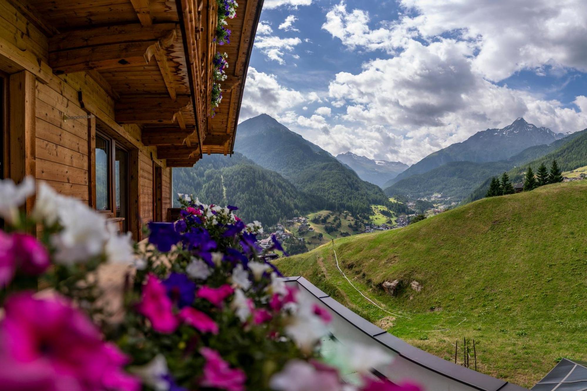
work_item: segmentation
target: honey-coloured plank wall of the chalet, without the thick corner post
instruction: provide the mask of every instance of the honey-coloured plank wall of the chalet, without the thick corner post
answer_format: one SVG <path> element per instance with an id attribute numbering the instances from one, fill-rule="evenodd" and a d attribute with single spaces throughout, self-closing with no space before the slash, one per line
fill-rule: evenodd
<path id="1" fill-rule="evenodd" d="M 64 114 L 85 116 L 86 110 L 89 110 L 119 134 L 122 144 L 138 150 L 138 154 L 131 154 L 138 156 L 139 160 L 139 188 L 134 193 L 138 197 L 131 200 L 131 205 L 136 205 L 138 210 L 131 213 L 138 212 L 135 215 L 139 216 L 140 223 L 148 223 L 153 217 L 151 156 L 157 159 L 156 149 L 140 143 L 140 129 L 136 125 L 118 126 L 114 122 L 114 100 L 92 77 L 85 72 L 53 75 L 46 65 L 47 58 L 46 36 L 32 23 L 28 23 L 25 16 L 19 14 L 8 1 L 0 0 L 0 70 L 15 75 L 31 72 L 28 75 L 36 78 L 35 96 L 31 105 L 34 108 L 28 119 L 21 119 L 30 120 L 35 130 L 32 140 L 27 140 L 30 141 L 27 145 L 32 145 L 31 150 L 35 151 L 34 157 L 26 158 L 26 166 L 32 167 L 36 178 L 46 181 L 59 193 L 89 203 L 92 194 L 90 146 L 96 132 L 95 120 L 90 120 L 90 126 L 86 119 L 63 121 Z M 85 109 L 79 102 L 80 91 Z M 157 161 L 163 167 L 165 218 L 165 212 L 171 206 L 171 169 L 164 165 L 164 161 Z"/>

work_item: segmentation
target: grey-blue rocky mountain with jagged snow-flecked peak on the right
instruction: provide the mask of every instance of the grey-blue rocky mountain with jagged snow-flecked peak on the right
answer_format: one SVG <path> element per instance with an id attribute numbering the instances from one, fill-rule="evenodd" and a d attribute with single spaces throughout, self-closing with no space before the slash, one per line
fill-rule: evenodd
<path id="1" fill-rule="evenodd" d="M 554 133 L 547 127 L 537 127 L 519 117 L 502 129 L 487 129 L 473 134 L 462 143 L 436 151 L 424 157 L 397 177 L 388 181 L 384 187 L 392 186 L 403 178 L 422 174 L 451 161 L 487 161 L 505 160 L 528 147 L 550 144 L 565 137 L 563 133 Z"/>

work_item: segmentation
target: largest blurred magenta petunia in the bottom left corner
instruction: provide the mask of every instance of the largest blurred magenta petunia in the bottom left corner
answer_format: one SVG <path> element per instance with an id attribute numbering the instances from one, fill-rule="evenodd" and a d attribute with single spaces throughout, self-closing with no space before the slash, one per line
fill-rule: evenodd
<path id="1" fill-rule="evenodd" d="M 65 299 L 31 293 L 6 301 L 0 323 L 0 384 L 6 390 L 138 391 L 127 358 Z"/>

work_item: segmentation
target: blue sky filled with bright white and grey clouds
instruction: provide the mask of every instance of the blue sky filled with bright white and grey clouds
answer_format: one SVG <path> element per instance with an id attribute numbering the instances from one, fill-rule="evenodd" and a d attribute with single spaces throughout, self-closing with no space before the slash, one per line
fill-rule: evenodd
<path id="1" fill-rule="evenodd" d="M 415 163 L 516 117 L 587 127 L 587 2 L 265 0 L 239 121 Z"/>

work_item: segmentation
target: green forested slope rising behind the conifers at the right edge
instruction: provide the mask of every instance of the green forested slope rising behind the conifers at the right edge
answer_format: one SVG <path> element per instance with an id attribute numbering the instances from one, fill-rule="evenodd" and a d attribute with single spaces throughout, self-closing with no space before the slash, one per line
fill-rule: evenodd
<path id="1" fill-rule="evenodd" d="M 563 171 L 570 171 L 587 165 L 587 129 L 569 134 L 564 139 L 552 143 L 551 146 L 555 148 L 551 149 L 548 153 L 534 157 L 534 159 L 525 160 L 517 166 L 510 168 L 508 171 L 510 180 L 513 183 L 521 182 L 528 167 L 532 167 L 535 170 L 541 163 L 550 167 L 552 160 L 556 160 L 558 167 Z M 483 183 L 480 183 L 477 188 L 465 197 L 463 203 L 470 203 L 471 201 L 485 197 L 490 182 L 491 177 L 485 178 Z"/>

